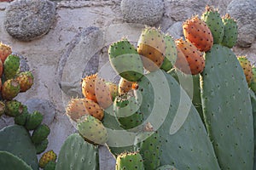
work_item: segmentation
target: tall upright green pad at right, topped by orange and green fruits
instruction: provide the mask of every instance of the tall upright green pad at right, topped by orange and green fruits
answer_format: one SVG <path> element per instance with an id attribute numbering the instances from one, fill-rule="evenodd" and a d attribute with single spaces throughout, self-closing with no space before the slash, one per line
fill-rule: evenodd
<path id="1" fill-rule="evenodd" d="M 218 44 L 205 54 L 202 108 L 222 169 L 253 169 L 253 115 L 246 77 L 236 55 Z"/>

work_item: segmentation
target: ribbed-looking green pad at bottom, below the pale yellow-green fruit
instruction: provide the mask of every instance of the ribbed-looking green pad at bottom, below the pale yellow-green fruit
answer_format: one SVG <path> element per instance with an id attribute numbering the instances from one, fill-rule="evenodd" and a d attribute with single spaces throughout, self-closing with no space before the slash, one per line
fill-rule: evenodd
<path id="1" fill-rule="evenodd" d="M 89 144 L 79 135 L 71 134 L 58 155 L 56 170 L 99 170 L 98 147 Z"/>

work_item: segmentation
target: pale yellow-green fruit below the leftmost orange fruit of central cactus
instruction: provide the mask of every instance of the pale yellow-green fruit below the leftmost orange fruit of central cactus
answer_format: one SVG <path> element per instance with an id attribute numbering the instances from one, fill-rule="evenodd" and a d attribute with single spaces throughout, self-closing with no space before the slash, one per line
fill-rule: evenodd
<path id="1" fill-rule="evenodd" d="M 79 120 L 77 128 L 84 139 L 92 144 L 105 144 L 108 141 L 106 127 L 94 116 L 83 116 Z"/>

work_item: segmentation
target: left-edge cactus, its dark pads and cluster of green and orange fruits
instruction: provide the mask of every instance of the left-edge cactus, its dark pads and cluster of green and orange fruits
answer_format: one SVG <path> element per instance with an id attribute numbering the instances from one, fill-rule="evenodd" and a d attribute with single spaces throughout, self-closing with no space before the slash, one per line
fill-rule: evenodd
<path id="1" fill-rule="evenodd" d="M 15 125 L 0 130 L 3 143 L 10 143 L 9 147 L 3 147 L 6 144 L 1 145 L 1 157 L 9 157 L 10 162 L 15 161 L 17 162 L 15 166 L 23 166 L 24 169 L 38 169 L 37 155 L 46 150 L 50 130 L 42 123 L 42 113 L 39 111 L 30 113 L 26 105 L 15 99 L 18 94 L 26 93 L 32 88 L 34 81 L 32 71 L 20 71 L 20 57 L 12 53 L 9 45 L 2 42 L 0 58 L 0 116 L 14 117 L 15 121 Z M 4 163 L 8 169 L 8 162 Z"/>

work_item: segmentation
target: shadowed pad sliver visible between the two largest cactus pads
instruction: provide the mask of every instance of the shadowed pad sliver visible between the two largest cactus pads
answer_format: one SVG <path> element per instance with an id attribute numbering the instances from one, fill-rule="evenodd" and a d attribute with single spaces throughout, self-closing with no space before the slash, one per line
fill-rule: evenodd
<path id="1" fill-rule="evenodd" d="M 176 81 L 183 87 L 190 99 L 192 99 L 192 103 L 195 105 L 195 109 L 201 116 L 201 120 L 204 120 L 201 108 L 200 76 L 184 74 L 182 71 L 177 69 L 172 69 L 171 71 L 168 71 L 168 73 L 171 74 L 172 77 L 174 77 Z"/>

